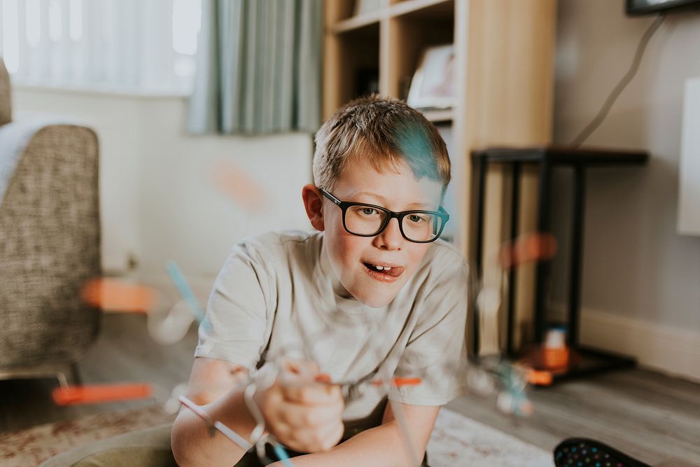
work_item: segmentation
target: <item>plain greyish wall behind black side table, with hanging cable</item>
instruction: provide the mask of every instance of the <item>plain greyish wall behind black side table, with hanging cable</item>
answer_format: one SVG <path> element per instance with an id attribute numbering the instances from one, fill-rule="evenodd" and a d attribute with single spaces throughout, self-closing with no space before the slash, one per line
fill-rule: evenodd
<path id="1" fill-rule="evenodd" d="M 626 72 L 654 18 L 627 18 L 623 0 L 561 0 L 558 15 L 554 141 L 567 144 Z M 693 76 L 700 76 L 700 15 L 669 15 L 638 75 L 586 142 L 646 149 L 650 162 L 588 172 L 584 328 L 592 310 L 671 335 L 693 333 L 687 342 L 696 349 L 683 358 L 700 356 L 700 238 L 676 232 L 682 97 L 686 78 Z M 557 176 L 556 193 L 567 193 L 569 182 L 568 174 Z M 570 230 L 561 219 L 569 203 L 570 197 L 560 196 L 553 216 L 560 219 L 555 230 L 566 239 Z M 563 301 L 566 290 L 568 251 L 562 253 L 554 268 L 555 301 Z M 700 375 L 700 365 L 692 364 Z"/>

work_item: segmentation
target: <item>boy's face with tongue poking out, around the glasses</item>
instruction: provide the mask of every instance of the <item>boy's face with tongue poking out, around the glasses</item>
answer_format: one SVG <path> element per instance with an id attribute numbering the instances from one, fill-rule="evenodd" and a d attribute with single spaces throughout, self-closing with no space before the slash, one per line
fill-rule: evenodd
<path id="1" fill-rule="evenodd" d="M 388 166 L 382 172 L 369 162 L 356 162 L 345 169 L 330 193 L 341 201 L 376 204 L 391 211 L 437 211 L 442 184 L 427 178 L 416 180 L 405 162 L 396 169 Z M 306 195 L 304 202 L 307 202 Z M 412 277 L 430 244 L 405 239 L 396 218 L 392 218 L 379 235 L 358 237 L 345 230 L 342 209 L 336 204 L 321 195 L 318 205 L 321 225 L 313 218 L 311 223 L 325 231 L 322 254 L 327 255 L 340 284 L 367 306 L 388 305 Z M 391 269 L 378 272 L 372 265 Z"/>

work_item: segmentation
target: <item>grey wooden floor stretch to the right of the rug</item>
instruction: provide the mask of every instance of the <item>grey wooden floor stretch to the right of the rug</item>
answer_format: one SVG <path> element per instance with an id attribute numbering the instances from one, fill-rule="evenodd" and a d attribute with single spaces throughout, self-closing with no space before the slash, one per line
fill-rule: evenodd
<path id="1" fill-rule="evenodd" d="M 565 438 L 592 438 L 652 466 L 700 466 L 700 385 L 622 370 L 534 389 L 535 414 L 512 419 L 495 400 L 460 398 L 449 408 L 550 451 Z"/>

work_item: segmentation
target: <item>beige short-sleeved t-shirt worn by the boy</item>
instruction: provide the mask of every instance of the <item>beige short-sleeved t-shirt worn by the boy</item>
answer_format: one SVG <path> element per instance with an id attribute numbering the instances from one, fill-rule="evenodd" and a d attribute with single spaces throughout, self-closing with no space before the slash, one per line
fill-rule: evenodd
<path id="1" fill-rule="evenodd" d="M 334 292 L 323 233 L 269 233 L 237 244 L 216 279 L 195 356 L 253 369 L 304 350 L 336 382 L 421 377 L 389 398 L 444 405 L 463 395 L 468 266 L 438 240 L 394 300 L 372 308 Z M 384 393 L 357 386 L 346 421 L 365 419 Z"/>

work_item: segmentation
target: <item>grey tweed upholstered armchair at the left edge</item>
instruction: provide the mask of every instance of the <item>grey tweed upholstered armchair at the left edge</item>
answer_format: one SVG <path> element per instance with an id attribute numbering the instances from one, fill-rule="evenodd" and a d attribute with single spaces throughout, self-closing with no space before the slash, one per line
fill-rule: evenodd
<path id="1" fill-rule="evenodd" d="M 0 60 L 0 379 L 77 378 L 97 337 L 80 300 L 100 274 L 97 163 L 86 127 L 12 121 Z"/>

